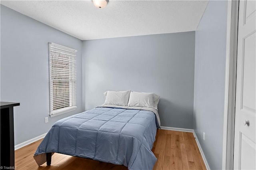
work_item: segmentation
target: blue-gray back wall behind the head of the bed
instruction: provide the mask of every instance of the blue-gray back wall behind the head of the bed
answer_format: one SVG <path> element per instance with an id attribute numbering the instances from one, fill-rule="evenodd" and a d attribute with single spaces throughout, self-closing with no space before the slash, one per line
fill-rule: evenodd
<path id="1" fill-rule="evenodd" d="M 160 95 L 161 125 L 193 128 L 195 32 L 83 42 L 84 103 L 104 103 L 107 90 Z"/>

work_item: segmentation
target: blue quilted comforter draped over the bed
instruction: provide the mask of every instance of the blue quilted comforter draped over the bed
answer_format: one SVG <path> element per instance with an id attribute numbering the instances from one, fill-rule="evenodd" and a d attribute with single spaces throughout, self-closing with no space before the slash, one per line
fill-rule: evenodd
<path id="1" fill-rule="evenodd" d="M 46 152 L 57 152 L 123 164 L 129 170 L 152 170 L 156 129 L 151 111 L 98 107 L 57 121 L 34 158 L 41 165 Z"/>

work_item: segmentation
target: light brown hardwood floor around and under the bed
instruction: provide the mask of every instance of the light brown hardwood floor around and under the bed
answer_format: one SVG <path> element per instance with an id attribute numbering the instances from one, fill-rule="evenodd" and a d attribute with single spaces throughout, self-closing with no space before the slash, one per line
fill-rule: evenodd
<path id="1" fill-rule="evenodd" d="M 18 170 L 127 170 L 122 165 L 57 153 L 52 156 L 51 166 L 46 166 L 46 163 L 38 166 L 33 155 L 41 141 L 15 151 L 15 166 Z M 206 170 L 191 132 L 158 129 L 152 151 L 157 157 L 154 170 Z"/>

